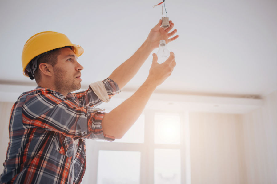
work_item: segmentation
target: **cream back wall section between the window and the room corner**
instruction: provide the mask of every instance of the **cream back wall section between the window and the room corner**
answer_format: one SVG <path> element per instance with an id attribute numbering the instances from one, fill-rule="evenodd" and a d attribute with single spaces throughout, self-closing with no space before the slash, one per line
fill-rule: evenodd
<path id="1" fill-rule="evenodd" d="M 239 114 L 190 113 L 191 183 L 244 183 Z"/>

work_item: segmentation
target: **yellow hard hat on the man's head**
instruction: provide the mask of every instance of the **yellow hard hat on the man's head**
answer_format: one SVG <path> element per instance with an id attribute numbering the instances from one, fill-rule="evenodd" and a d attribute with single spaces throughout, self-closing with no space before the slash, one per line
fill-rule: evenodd
<path id="1" fill-rule="evenodd" d="M 67 36 L 62 33 L 44 31 L 30 37 L 23 47 L 21 56 L 23 75 L 28 77 L 28 72 L 25 72 L 25 69 L 34 57 L 44 52 L 66 46 L 70 46 L 77 57 L 84 53 L 84 49 L 81 46 L 72 44 Z"/>

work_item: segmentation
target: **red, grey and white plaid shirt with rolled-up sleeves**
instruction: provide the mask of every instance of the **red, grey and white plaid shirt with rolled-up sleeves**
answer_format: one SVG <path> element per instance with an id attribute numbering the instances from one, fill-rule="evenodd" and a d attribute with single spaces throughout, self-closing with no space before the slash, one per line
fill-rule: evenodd
<path id="1" fill-rule="evenodd" d="M 102 86 L 91 84 L 66 98 L 40 87 L 20 95 L 11 110 L 1 183 L 81 183 L 86 168 L 84 139 L 114 140 L 103 134 L 104 113 L 94 107 L 119 89 L 109 78 L 100 82 Z"/>

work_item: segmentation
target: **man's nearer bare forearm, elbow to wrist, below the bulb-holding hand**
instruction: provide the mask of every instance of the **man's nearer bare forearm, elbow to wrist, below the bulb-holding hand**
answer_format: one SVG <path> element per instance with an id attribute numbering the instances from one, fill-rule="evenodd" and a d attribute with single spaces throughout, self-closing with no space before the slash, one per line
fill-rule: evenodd
<path id="1" fill-rule="evenodd" d="M 122 138 L 142 113 L 155 88 L 150 82 L 144 82 L 130 98 L 106 113 L 101 124 L 104 134 Z"/>

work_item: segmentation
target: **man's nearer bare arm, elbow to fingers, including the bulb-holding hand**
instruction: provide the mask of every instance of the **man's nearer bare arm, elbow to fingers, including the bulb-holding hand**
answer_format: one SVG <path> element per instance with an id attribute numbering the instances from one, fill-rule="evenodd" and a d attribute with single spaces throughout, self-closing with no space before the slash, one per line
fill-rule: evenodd
<path id="1" fill-rule="evenodd" d="M 122 138 L 138 119 L 156 87 L 171 75 L 175 65 L 173 52 L 162 64 L 157 63 L 157 55 L 153 54 L 152 66 L 143 85 L 130 98 L 104 115 L 101 123 L 104 134 Z"/>

